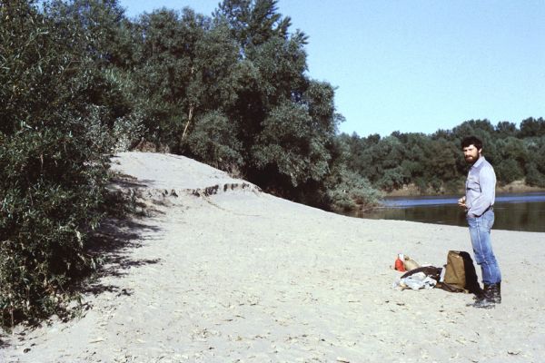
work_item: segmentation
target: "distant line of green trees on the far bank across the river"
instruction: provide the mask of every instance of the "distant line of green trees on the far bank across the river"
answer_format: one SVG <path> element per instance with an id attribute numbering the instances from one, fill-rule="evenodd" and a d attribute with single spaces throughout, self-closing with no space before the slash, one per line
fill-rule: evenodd
<path id="1" fill-rule="evenodd" d="M 390 136 L 342 134 L 351 157 L 348 168 L 382 191 L 414 185 L 421 193 L 460 191 L 468 166 L 461 153 L 465 136 L 483 142 L 483 155 L 494 166 L 500 185 L 524 180 L 545 188 L 545 120 L 520 123 L 471 120 L 431 135 L 392 132 Z"/>

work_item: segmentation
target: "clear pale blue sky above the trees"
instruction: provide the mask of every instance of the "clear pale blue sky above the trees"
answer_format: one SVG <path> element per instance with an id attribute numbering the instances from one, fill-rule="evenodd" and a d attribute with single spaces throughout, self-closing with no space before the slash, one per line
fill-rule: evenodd
<path id="1" fill-rule="evenodd" d="M 121 0 L 211 15 L 218 0 Z M 279 0 L 308 34 L 309 76 L 337 87 L 341 132 L 432 133 L 545 117 L 545 2 Z"/>

